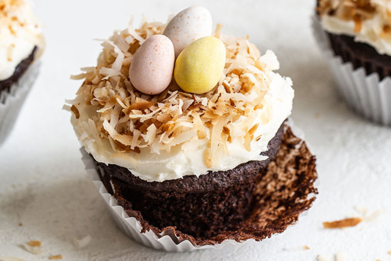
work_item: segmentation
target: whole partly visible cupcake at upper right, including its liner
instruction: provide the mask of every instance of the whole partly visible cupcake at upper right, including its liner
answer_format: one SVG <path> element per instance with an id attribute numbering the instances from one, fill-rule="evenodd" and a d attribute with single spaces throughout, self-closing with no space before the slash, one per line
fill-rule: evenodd
<path id="1" fill-rule="evenodd" d="M 387 0 L 319 0 L 314 26 L 337 85 L 352 108 L 391 124 L 391 5 Z"/>

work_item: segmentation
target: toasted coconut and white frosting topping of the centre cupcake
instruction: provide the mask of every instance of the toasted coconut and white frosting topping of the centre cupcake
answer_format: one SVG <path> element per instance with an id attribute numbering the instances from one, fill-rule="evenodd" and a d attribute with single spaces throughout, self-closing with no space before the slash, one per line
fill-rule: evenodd
<path id="1" fill-rule="evenodd" d="M 126 167 L 147 181 L 199 176 L 233 169 L 250 160 L 265 160 L 267 157 L 260 154 L 267 151 L 268 142 L 291 114 L 294 97 L 291 79 L 273 72 L 279 68 L 274 53 L 268 50 L 261 56 L 248 37 L 224 36 L 218 25 L 213 37 L 201 36 L 179 53 L 169 86 L 149 95 L 132 84 L 129 67 L 150 42 L 160 37 L 165 43 L 160 34 L 166 26 L 170 23 L 145 22 L 140 29 L 130 25 L 115 32 L 103 41 L 97 66 L 83 68 L 85 73 L 72 77 L 85 78 L 77 97 L 68 101 L 81 144 L 98 162 Z M 145 50 L 141 50 L 143 45 Z M 159 52 L 156 45 L 151 46 Z M 205 46 L 216 50 L 205 55 Z M 165 58 L 175 56 L 174 50 L 167 52 Z M 209 84 L 222 54 L 217 82 L 211 90 L 195 94 L 202 92 L 198 85 Z M 147 54 L 142 57 L 153 65 Z M 200 64 L 214 67 L 197 74 Z M 147 66 L 143 69 L 148 70 Z M 158 67 L 151 73 L 155 70 Z M 192 70 L 197 77 L 183 76 Z M 181 83 L 178 77 L 182 77 Z M 203 81 L 194 85 L 199 79 Z"/>

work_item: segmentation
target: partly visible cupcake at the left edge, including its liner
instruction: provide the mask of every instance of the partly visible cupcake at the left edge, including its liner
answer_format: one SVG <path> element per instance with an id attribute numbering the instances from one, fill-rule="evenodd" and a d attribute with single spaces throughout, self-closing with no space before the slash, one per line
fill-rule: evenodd
<path id="1" fill-rule="evenodd" d="M 0 0 L 0 144 L 11 131 L 38 73 L 44 40 L 24 0 Z"/>

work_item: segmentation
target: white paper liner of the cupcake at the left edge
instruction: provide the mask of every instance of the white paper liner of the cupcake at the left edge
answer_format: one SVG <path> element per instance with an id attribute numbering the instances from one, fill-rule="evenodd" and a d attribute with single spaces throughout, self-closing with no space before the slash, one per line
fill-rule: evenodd
<path id="1" fill-rule="evenodd" d="M 31 86 L 38 76 L 40 63 L 35 61 L 23 73 L 10 91 L 0 92 L 0 145 L 11 132 Z"/>

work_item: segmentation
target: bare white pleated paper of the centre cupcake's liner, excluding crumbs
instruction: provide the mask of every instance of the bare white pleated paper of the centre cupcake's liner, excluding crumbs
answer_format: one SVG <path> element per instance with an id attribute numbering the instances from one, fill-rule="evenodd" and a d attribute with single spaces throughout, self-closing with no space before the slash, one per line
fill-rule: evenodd
<path id="1" fill-rule="evenodd" d="M 292 126 L 292 121 L 290 120 L 287 123 L 289 126 Z M 297 134 L 297 137 L 300 137 L 302 139 L 303 132 L 297 128 L 294 127 L 294 134 Z M 104 202 L 106 203 L 106 208 L 108 209 L 109 215 L 115 221 L 117 224 L 117 227 L 122 230 L 129 238 L 135 240 L 136 242 L 145 245 L 146 247 L 158 249 L 158 250 L 165 250 L 167 252 L 190 252 L 197 249 L 221 249 L 227 245 L 231 246 L 239 246 L 242 243 L 239 243 L 233 239 L 226 239 L 222 241 L 220 244 L 215 245 L 194 245 L 189 240 L 184 240 L 179 242 L 179 238 L 174 233 L 165 233 L 165 234 L 155 234 L 152 230 L 149 230 L 145 233 L 141 233 L 142 225 L 135 217 L 129 217 L 129 215 L 124 211 L 124 208 L 120 205 L 118 205 L 117 200 L 106 190 L 106 187 L 100 180 L 100 176 L 98 171 L 95 168 L 95 162 L 91 158 L 91 156 L 85 151 L 85 149 L 82 147 L 80 149 L 82 153 L 82 160 L 85 165 L 85 169 L 92 179 L 95 187 L 98 189 L 100 195 L 104 199 Z M 318 179 L 314 183 L 315 186 L 318 185 Z M 308 198 L 312 198 L 315 196 L 315 194 L 308 195 Z M 303 216 L 307 216 L 308 210 L 304 211 L 300 214 L 300 219 L 303 218 Z M 296 225 L 291 225 L 290 227 Z M 279 234 L 274 234 L 273 236 L 277 236 Z M 178 243 L 179 242 L 179 243 Z"/>

